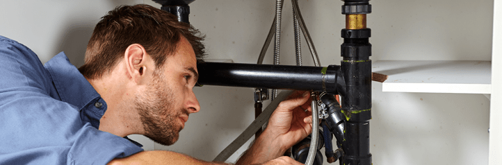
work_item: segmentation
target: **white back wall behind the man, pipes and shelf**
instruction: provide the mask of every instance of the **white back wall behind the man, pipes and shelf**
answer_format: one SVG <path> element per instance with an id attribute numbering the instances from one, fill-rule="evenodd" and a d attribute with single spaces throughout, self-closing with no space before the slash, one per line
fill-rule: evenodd
<path id="1" fill-rule="evenodd" d="M 152 1 L 145 3 L 158 6 Z M 370 1 L 368 27 L 372 60 L 490 60 L 493 1 Z M 46 62 L 65 51 L 77 67 L 93 26 L 106 11 L 143 1 L 3 2 L 0 35 L 13 38 Z M 342 1 L 300 1 L 300 9 L 321 58 L 339 64 Z M 275 1 L 198 0 L 190 21 L 207 35 L 211 59 L 256 63 L 274 17 Z M 295 64 L 291 1 L 283 12 L 281 64 Z M 265 62 L 271 64 L 273 45 Z M 302 43 L 305 65 L 313 65 Z M 381 92 L 373 83 L 373 164 L 487 164 L 489 100 L 480 94 Z M 136 136 L 146 149 L 175 150 L 211 160 L 254 119 L 252 89 L 195 88 L 202 110 L 192 114 L 173 146 Z M 229 162 L 234 162 L 244 148 Z"/>

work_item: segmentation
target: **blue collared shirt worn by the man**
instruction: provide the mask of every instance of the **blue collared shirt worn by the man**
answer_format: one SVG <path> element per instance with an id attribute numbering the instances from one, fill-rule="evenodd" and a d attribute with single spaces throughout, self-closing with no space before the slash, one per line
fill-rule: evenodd
<path id="1" fill-rule="evenodd" d="M 0 164 L 106 164 L 142 151 L 98 130 L 106 102 L 65 53 L 42 65 L 0 36 Z"/>

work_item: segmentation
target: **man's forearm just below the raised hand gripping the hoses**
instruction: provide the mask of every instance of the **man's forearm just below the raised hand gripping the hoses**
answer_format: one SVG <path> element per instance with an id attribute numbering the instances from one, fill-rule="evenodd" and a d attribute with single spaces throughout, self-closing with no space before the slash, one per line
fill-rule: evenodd
<path id="1" fill-rule="evenodd" d="M 238 159 L 236 165 L 262 164 L 284 155 L 284 148 L 273 133 L 265 130 L 254 140 L 252 146 Z"/>

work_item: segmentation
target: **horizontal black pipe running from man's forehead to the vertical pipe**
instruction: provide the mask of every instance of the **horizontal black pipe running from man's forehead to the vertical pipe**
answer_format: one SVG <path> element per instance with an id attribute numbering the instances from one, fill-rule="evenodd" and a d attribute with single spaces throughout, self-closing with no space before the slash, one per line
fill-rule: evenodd
<path id="1" fill-rule="evenodd" d="M 301 67 L 272 64 L 236 64 L 200 62 L 197 64 L 200 85 L 297 89 L 345 94 L 341 68 Z"/>

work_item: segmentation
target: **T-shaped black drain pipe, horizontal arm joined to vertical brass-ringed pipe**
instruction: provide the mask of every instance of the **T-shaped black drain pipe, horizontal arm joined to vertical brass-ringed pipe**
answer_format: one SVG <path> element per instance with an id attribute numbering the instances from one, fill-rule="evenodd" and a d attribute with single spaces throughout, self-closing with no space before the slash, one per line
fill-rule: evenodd
<path id="1" fill-rule="evenodd" d="M 369 120 L 371 119 L 371 29 L 366 28 L 369 0 L 344 0 L 342 14 L 346 28 L 341 30 L 341 66 L 298 67 L 267 64 L 202 62 L 197 64 L 200 85 L 298 89 L 342 97 L 345 117 L 340 164 L 371 165 Z M 337 131 L 334 131 L 336 133 Z M 340 132 L 340 131 L 338 131 Z M 340 149 L 339 149 L 340 150 Z M 338 151 L 338 150 L 337 150 Z"/>

